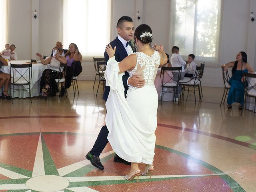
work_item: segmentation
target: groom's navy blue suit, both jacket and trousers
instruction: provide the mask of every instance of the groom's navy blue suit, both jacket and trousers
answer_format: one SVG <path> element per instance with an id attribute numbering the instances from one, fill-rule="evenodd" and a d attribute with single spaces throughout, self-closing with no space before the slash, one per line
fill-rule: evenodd
<path id="1" fill-rule="evenodd" d="M 124 48 L 124 45 L 122 44 L 122 42 L 116 37 L 116 39 L 114 39 L 112 42 L 110 42 L 112 48 L 114 48 L 116 46 L 116 52 L 115 52 L 115 58 L 117 62 L 122 61 L 124 58 L 126 58 L 128 56 L 126 49 Z M 135 48 L 132 47 L 133 52 L 136 52 Z M 108 62 L 108 54 L 105 52 L 104 53 L 104 57 L 106 60 L 106 63 Z M 125 72 L 124 76 L 123 76 L 123 83 L 124 83 L 124 96 L 126 97 L 126 93 L 128 90 L 128 85 L 127 85 L 127 80 L 129 78 L 129 74 L 128 72 Z M 108 99 L 108 94 L 110 92 L 110 87 L 106 86 L 105 87 L 105 91 L 103 94 L 103 99 L 107 100 Z M 92 150 L 90 151 L 90 153 L 92 155 L 95 156 L 100 156 L 100 154 L 102 153 L 103 149 L 105 148 L 105 146 L 108 144 L 108 128 L 106 125 L 104 125 L 101 130 L 100 133 L 94 143 L 94 146 L 92 148 Z"/>

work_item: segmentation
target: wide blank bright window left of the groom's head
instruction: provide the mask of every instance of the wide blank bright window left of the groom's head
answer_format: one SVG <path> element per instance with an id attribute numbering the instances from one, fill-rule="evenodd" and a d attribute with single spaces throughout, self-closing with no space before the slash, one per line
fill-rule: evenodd
<path id="1" fill-rule="evenodd" d="M 83 56 L 102 56 L 110 42 L 111 0 L 64 0 L 63 46 L 75 43 Z"/>

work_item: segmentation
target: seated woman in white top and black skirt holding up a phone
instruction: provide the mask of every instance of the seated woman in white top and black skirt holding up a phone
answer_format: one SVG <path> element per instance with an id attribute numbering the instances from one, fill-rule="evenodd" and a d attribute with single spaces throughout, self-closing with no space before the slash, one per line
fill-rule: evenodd
<path id="1" fill-rule="evenodd" d="M 42 64 L 50 64 L 50 69 L 44 70 L 40 81 L 40 92 L 43 92 L 42 98 L 44 99 L 47 99 L 48 94 L 55 95 L 58 93 L 58 85 L 55 79 L 59 78 L 58 70 L 60 68 L 60 63 L 67 63 L 66 58 L 60 56 L 58 48 L 55 47 L 52 51 L 56 54 L 53 54 L 52 57 L 49 57 L 46 60 L 43 59 L 40 53 L 36 53 L 36 56 L 40 57 Z"/>

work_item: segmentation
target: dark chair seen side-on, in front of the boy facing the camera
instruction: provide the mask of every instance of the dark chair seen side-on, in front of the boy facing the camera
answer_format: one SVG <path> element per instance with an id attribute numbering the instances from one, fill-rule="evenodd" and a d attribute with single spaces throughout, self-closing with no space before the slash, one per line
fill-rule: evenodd
<path id="1" fill-rule="evenodd" d="M 198 94 L 199 94 L 199 100 L 202 102 L 201 91 L 200 91 L 200 80 L 202 79 L 202 75 L 203 75 L 202 70 L 203 70 L 203 66 L 198 66 L 196 67 L 196 72 L 192 78 L 184 77 L 184 79 L 180 80 L 179 84 L 182 85 L 183 87 L 182 99 L 184 98 L 185 91 L 188 91 L 188 93 L 193 92 L 195 103 L 196 103 L 196 88 L 197 88 Z M 189 87 L 192 87 L 193 90 L 189 90 Z"/>

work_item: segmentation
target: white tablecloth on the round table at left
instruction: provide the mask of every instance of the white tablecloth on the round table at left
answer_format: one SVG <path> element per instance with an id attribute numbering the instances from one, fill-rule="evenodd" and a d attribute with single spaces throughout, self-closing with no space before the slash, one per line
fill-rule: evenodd
<path id="1" fill-rule="evenodd" d="M 0 69 L 4 73 L 10 74 L 10 63 L 12 64 L 24 64 L 28 62 L 28 60 L 13 60 L 8 62 L 8 66 L 2 66 Z M 32 79 L 30 80 L 30 90 L 31 90 L 31 96 L 39 96 L 39 91 L 40 91 L 40 79 L 42 76 L 43 71 L 46 68 L 50 68 L 50 65 L 43 65 L 41 63 L 35 63 L 32 64 Z M 21 72 L 24 69 L 20 69 Z M 19 74 L 14 72 L 14 76 L 19 76 Z M 10 85 L 12 86 L 12 85 Z M 15 88 L 16 86 L 14 86 Z M 0 92 L 1 93 L 1 92 Z M 10 93 L 12 96 L 12 92 Z M 29 97 L 29 92 L 28 91 L 16 91 L 14 92 L 14 97 L 19 97 L 19 98 L 26 98 Z"/>

